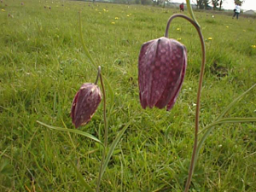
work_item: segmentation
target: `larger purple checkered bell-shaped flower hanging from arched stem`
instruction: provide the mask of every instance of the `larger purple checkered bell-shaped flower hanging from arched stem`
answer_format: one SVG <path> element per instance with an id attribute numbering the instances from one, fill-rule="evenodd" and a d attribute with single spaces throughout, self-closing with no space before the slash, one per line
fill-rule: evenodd
<path id="1" fill-rule="evenodd" d="M 138 60 L 138 82 L 143 108 L 170 110 L 177 100 L 187 67 L 187 50 L 171 38 L 143 44 Z"/>

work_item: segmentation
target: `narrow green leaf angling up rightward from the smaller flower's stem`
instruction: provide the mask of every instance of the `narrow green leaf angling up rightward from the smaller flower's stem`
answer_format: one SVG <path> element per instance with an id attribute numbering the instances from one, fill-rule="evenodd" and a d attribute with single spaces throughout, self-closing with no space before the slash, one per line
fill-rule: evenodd
<path id="1" fill-rule="evenodd" d="M 117 146 L 117 144 L 119 143 L 121 137 L 124 135 L 126 129 L 127 129 L 128 126 L 131 124 L 131 121 L 133 121 L 133 119 L 131 119 L 131 120 L 125 125 L 125 127 L 124 127 L 121 131 L 119 131 L 117 137 L 114 139 L 113 143 L 111 144 L 111 146 L 110 146 L 110 148 L 109 148 L 109 151 L 108 151 L 108 155 L 107 155 L 107 157 L 106 157 L 106 160 L 104 160 L 104 164 L 103 164 L 103 166 L 102 166 L 102 176 L 103 176 L 104 172 L 106 171 L 106 168 L 107 168 L 107 166 L 108 166 L 108 162 L 109 162 L 110 158 L 111 158 L 112 155 L 113 155 L 113 150 L 114 150 L 114 148 Z M 101 177 L 102 177 L 102 176 L 101 176 Z"/>

